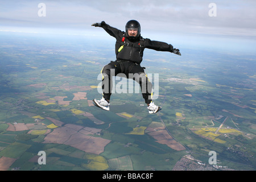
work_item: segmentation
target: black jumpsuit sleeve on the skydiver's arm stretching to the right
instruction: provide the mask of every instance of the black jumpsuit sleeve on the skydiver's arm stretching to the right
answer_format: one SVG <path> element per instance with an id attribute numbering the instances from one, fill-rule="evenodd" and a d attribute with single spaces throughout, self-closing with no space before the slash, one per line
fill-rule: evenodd
<path id="1" fill-rule="evenodd" d="M 165 42 L 159 42 L 150 39 L 144 39 L 144 46 L 148 49 L 154 49 L 155 51 L 168 51 L 172 52 L 174 47 L 171 44 L 167 44 Z"/>

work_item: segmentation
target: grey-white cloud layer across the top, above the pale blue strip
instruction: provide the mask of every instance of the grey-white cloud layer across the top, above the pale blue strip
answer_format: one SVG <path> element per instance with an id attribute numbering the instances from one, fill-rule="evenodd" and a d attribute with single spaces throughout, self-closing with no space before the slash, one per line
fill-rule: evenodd
<path id="1" fill-rule="evenodd" d="M 40 2 L 46 4 L 46 17 L 38 16 Z M 3 26 L 82 30 L 101 20 L 124 29 L 128 20 L 137 19 L 147 31 L 256 36 L 254 0 L 216 0 L 216 17 L 208 15 L 210 2 L 10 0 L 1 3 L 0 20 Z"/>

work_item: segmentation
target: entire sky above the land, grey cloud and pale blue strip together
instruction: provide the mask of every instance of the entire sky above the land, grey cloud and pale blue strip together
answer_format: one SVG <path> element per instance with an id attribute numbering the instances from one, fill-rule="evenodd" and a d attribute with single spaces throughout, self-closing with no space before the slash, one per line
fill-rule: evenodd
<path id="1" fill-rule="evenodd" d="M 136 19 L 144 38 L 255 52 L 255 0 L 0 0 L 0 5 L 0 31 L 108 36 L 91 24 L 104 20 L 125 30 L 126 22 Z"/>

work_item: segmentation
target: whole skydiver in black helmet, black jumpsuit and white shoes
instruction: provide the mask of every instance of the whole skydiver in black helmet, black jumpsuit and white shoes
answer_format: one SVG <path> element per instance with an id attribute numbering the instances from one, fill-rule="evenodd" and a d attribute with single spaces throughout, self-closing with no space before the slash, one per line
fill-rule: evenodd
<path id="1" fill-rule="evenodd" d="M 116 39 L 116 60 L 111 61 L 102 68 L 103 97 L 101 100 L 94 99 L 94 104 L 101 107 L 101 109 L 109 110 L 110 96 L 112 94 L 112 78 L 110 72 L 114 70 L 114 76 L 117 76 L 118 73 L 124 73 L 127 78 L 129 77 L 129 73 L 137 75 L 133 77 L 133 80 L 137 81 L 141 86 L 141 90 L 143 90 L 142 96 L 147 104 L 148 113 L 152 114 L 161 110 L 162 108 L 160 106 L 156 106 L 152 102 L 152 84 L 148 80 L 144 68 L 141 67 L 143 51 L 145 48 L 148 48 L 156 51 L 172 52 L 181 56 L 179 49 L 174 48 L 171 44 L 142 38 L 141 25 L 137 20 L 129 20 L 126 23 L 125 32 L 109 26 L 104 21 L 93 23 L 92 26 L 104 28 L 109 35 Z"/>

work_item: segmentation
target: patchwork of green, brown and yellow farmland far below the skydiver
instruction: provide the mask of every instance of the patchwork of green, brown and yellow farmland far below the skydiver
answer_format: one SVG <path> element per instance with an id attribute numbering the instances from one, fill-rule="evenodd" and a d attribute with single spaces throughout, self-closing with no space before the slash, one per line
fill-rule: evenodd
<path id="1" fill-rule="evenodd" d="M 256 169 L 254 55 L 148 50 L 142 65 L 159 75 L 162 110 L 148 114 L 141 93 L 114 93 L 105 111 L 92 100 L 113 42 L 0 34 L 1 170 Z"/>

